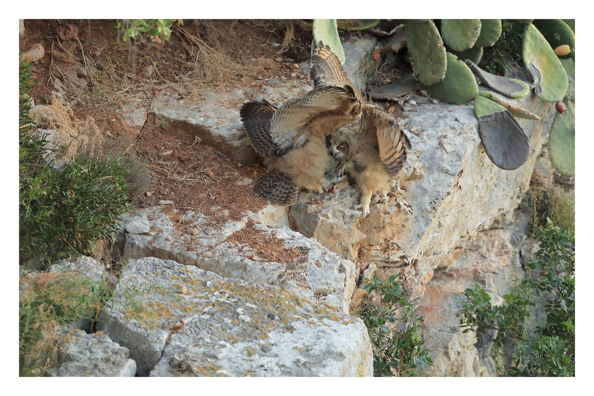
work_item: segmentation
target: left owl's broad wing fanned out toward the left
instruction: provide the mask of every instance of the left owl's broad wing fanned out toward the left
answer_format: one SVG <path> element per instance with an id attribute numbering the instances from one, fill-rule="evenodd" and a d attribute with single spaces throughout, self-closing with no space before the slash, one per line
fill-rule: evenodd
<path id="1" fill-rule="evenodd" d="M 304 137 L 302 132 L 308 121 L 352 100 L 353 93 L 346 88 L 320 87 L 278 108 L 266 100 L 252 100 L 242 106 L 239 115 L 254 150 L 264 157 L 279 157 L 293 148 L 299 137 Z"/>

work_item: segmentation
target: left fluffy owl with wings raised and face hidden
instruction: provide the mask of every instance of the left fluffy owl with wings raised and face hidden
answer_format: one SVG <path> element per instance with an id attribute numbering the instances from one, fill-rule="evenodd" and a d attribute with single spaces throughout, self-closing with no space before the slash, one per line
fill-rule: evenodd
<path id="1" fill-rule="evenodd" d="M 239 112 L 252 147 L 267 159 L 268 172 L 255 183 L 254 194 L 273 204 L 294 204 L 302 187 L 323 194 L 326 174 L 337 166 L 327 137 L 361 115 L 361 93 L 322 42 L 312 44 L 310 75 L 314 89 L 305 96 L 280 107 L 252 100 Z"/>

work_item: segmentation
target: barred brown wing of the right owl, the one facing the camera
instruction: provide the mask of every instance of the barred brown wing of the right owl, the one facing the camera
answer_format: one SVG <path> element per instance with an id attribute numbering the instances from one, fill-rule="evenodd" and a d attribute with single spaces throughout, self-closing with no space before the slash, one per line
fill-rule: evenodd
<path id="1" fill-rule="evenodd" d="M 367 104 L 362 113 L 362 132 L 377 137 L 381 164 L 386 173 L 395 178 L 406 162 L 406 150 L 410 150 L 409 139 L 396 120 L 384 110 Z"/>

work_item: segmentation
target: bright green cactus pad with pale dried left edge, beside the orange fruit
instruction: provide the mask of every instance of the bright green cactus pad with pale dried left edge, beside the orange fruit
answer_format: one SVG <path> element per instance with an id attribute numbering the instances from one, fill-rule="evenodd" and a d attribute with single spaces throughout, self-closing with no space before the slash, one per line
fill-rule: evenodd
<path id="1" fill-rule="evenodd" d="M 534 78 L 536 96 L 545 102 L 563 100 L 568 87 L 567 72 L 555 51 L 534 25 L 524 29 L 522 59 Z"/>

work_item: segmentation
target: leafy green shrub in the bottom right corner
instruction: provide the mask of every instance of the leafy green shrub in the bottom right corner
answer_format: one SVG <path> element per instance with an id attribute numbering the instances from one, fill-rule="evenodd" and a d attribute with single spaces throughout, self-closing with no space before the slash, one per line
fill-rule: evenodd
<path id="1" fill-rule="evenodd" d="M 520 287 L 503 296 L 501 306 L 476 285 L 466 289 L 462 310 L 457 313 L 463 332 L 476 331 L 479 341 L 485 331 L 497 330 L 494 349 L 516 341 L 510 376 L 575 375 L 575 235 L 554 227 L 536 228 L 539 250 L 527 262 Z M 554 296 L 554 297 L 550 297 Z M 546 300 L 546 323 L 530 332 L 526 319 L 533 315 L 535 300 Z"/>

